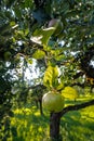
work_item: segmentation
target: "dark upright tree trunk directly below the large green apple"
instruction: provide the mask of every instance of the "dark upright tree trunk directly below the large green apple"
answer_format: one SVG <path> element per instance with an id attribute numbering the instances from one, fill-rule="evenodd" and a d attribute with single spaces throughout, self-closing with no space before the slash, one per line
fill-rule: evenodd
<path id="1" fill-rule="evenodd" d="M 50 138 L 52 141 L 63 141 L 59 134 L 61 113 L 51 113 L 50 115 Z"/>

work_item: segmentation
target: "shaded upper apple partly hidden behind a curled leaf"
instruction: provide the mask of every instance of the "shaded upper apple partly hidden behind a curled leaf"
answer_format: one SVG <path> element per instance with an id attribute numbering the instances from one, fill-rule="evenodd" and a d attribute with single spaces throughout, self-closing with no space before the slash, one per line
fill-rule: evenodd
<path id="1" fill-rule="evenodd" d="M 58 36 L 62 33 L 64 25 L 61 20 L 53 18 L 49 22 L 48 27 L 55 27 L 54 36 Z"/>

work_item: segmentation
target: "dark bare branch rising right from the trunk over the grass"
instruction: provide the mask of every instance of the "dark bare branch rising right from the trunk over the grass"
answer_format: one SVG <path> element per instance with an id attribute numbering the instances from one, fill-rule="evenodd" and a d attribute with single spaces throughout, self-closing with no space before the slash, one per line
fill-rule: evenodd
<path id="1" fill-rule="evenodd" d="M 70 111 L 78 111 L 78 110 L 81 110 L 91 105 L 94 105 L 94 100 L 91 100 L 81 104 L 77 104 L 77 105 L 69 105 L 67 107 L 64 107 L 64 110 L 61 112 L 61 117 Z"/>

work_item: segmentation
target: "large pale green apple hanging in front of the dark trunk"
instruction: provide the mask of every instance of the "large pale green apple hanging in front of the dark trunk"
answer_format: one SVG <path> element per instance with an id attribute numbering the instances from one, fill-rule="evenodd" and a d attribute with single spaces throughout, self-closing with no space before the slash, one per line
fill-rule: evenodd
<path id="1" fill-rule="evenodd" d="M 58 113 L 64 107 L 64 97 L 58 92 L 51 91 L 43 95 L 42 105 L 50 112 Z"/>

